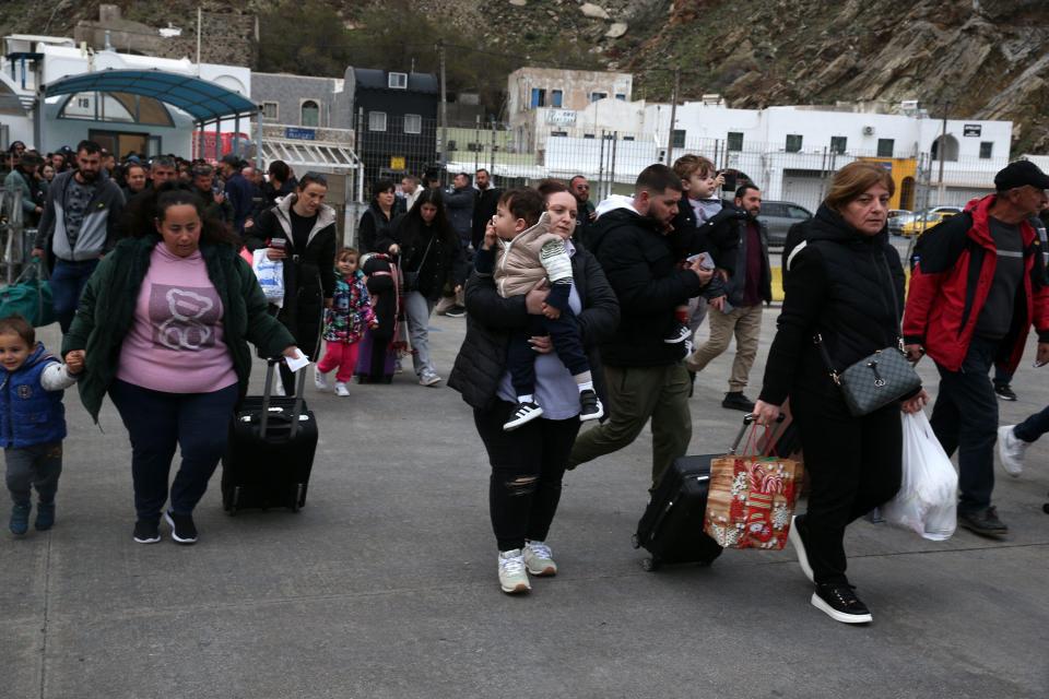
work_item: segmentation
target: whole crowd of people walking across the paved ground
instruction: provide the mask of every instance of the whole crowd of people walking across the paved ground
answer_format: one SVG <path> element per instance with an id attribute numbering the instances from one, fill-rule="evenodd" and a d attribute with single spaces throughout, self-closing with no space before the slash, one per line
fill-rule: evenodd
<path id="1" fill-rule="evenodd" d="M 66 388 L 79 383 L 96 419 L 108 394 L 128 429 L 134 541 L 160 541 L 164 518 L 190 544 L 193 508 L 226 448 L 213 426 L 247 390 L 248 343 L 267 356 L 304 353 L 317 363 L 316 388 L 329 390 L 335 372 L 340 396 L 354 376 L 388 382 L 409 354 L 419 383 L 436 387 L 434 312 L 467 318 L 448 386 L 472 408 L 488 455 L 497 574 L 511 594 L 530 589 L 529 576 L 557 572 L 549 534 L 566 472 L 630 445 L 646 424 L 653 488 L 685 455 L 696 374 L 732 336 L 721 405 L 770 425 L 789 399 L 811 487 L 790 541 L 812 604 L 839 621 L 872 618 L 846 574 L 845 530 L 899 489 L 899 414 L 929 395 L 919 388 L 857 416 L 828 356 L 846 367 L 898 345 L 915 363 L 935 362 L 931 422 L 958 452 L 958 523 L 981 535 L 1007 533 L 991 498 L 995 437 L 1018 475 L 1025 449 L 1049 429 L 1046 412 L 1000 428 L 989 376 L 992 366 L 1012 376 L 1032 327 L 1038 364 L 1049 362 L 1045 228 L 1034 225 L 1049 177 L 1030 163 L 1009 165 L 995 193 L 926 234 L 909 289 L 886 229 L 891 176 L 869 163 L 842 167 L 815 217 L 788 238 L 786 298 L 752 401 L 744 390 L 773 299 L 762 191 L 742 181 L 722 198 L 723 174 L 705 157 L 650 165 L 632 193 L 597 205 L 582 176 L 509 190 L 485 169 L 456 175 L 447 190 L 413 176 L 379 180 L 347 248 L 325 177 L 296 178 L 281 162 L 263 175 L 236 156 L 116 163 L 90 141 L 47 155 L 15 145 L 8 178 L 27 188 L 34 253 L 50 260 L 63 333 L 58 357 L 24 320 L 0 320 L 4 390 L 19 399 L 0 415 L 17 535 L 34 488 L 36 529 L 56 521 Z M 248 261 L 260 259 L 281 263 L 276 303 Z M 705 319 L 709 339 L 695 347 Z M 281 378 L 294 391 L 291 369 Z M 28 412 L 46 419 L 26 425 Z"/>

